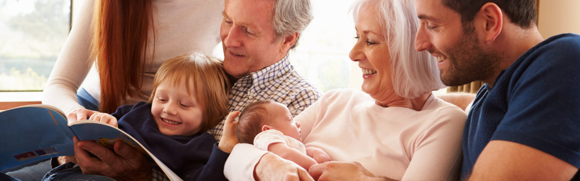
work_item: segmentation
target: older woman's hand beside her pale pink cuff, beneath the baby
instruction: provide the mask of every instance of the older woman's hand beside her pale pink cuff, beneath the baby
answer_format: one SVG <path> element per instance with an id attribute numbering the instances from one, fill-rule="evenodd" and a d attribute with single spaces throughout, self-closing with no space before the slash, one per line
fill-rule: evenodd
<path id="1" fill-rule="evenodd" d="M 259 180 L 300 180 L 314 181 L 308 171 L 292 161 L 285 160 L 273 153 L 266 153 L 260 158 L 254 172 L 254 179 Z"/>

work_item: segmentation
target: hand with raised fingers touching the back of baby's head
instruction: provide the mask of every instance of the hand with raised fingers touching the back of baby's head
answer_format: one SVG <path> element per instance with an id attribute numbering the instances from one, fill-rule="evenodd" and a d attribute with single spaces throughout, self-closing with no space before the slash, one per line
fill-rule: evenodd
<path id="1" fill-rule="evenodd" d="M 218 148 L 226 153 L 231 153 L 235 144 L 238 144 L 238 137 L 235 135 L 235 127 L 238 122 L 234 122 L 235 117 L 240 115 L 240 111 L 234 111 L 227 115 L 226 122 L 223 125 L 222 139 L 218 144 Z"/>

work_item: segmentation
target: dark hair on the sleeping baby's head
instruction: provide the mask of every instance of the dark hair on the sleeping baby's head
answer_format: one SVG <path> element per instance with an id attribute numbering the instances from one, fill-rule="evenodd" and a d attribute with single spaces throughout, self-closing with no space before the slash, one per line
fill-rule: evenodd
<path id="1" fill-rule="evenodd" d="M 266 106 L 272 103 L 269 100 L 260 100 L 248 104 L 240 113 L 238 126 L 235 128 L 235 135 L 240 143 L 253 144 L 253 139 L 262 132 L 262 126 L 271 121 Z"/>

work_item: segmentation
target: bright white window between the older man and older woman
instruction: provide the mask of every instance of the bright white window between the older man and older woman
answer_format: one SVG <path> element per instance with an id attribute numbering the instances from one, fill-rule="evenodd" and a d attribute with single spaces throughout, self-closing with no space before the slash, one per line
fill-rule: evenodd
<path id="1" fill-rule="evenodd" d="M 296 70 L 323 92 L 336 88 L 360 89 L 362 73 L 349 59 L 356 43 L 354 20 L 349 9 L 353 0 L 311 1 L 314 20 L 290 52 Z M 351 84 L 353 83 L 353 84 Z"/>

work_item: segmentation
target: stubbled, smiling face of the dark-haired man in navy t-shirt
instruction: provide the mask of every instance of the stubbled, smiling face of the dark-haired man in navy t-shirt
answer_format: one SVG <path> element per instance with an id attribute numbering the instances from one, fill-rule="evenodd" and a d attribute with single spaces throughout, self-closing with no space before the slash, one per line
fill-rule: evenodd
<path id="1" fill-rule="evenodd" d="M 416 0 L 415 9 L 420 19 L 415 49 L 436 57 L 443 84 L 463 85 L 494 73 L 497 53 L 482 46 L 477 30 L 464 30 L 461 15 L 441 0 Z"/>

